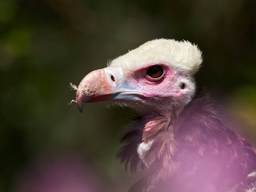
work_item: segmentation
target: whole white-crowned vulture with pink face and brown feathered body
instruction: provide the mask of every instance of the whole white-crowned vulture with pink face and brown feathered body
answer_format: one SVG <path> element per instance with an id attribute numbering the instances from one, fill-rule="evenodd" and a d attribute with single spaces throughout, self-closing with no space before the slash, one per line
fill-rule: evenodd
<path id="1" fill-rule="evenodd" d="M 156 39 L 90 72 L 76 90 L 79 110 L 108 101 L 136 109 L 117 156 L 145 176 L 131 192 L 255 192 L 256 150 L 229 129 L 194 74 L 202 52 L 188 41 Z"/>

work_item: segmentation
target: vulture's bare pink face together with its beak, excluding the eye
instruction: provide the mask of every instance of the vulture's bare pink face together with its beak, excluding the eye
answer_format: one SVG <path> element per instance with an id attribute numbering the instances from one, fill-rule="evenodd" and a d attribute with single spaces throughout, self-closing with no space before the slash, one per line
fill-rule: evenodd
<path id="1" fill-rule="evenodd" d="M 148 68 L 154 65 L 163 67 L 163 74 L 160 77 L 148 76 Z M 167 65 L 153 63 L 138 70 L 125 72 L 121 67 L 95 70 L 85 76 L 78 87 L 74 85 L 72 87 L 77 90 L 76 102 L 82 112 L 84 102 L 111 100 L 125 102 L 131 106 L 138 102 L 156 106 L 154 102 L 156 100 L 174 104 L 179 99 L 182 102 L 186 100 L 183 96 L 187 95 L 187 92 L 186 89 L 180 88 L 180 84 L 185 80 L 182 74 L 175 72 Z"/>

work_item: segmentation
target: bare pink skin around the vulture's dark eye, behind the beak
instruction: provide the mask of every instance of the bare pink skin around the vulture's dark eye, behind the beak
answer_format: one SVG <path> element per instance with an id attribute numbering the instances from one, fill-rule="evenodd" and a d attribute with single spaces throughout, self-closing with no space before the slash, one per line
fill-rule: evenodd
<path id="1" fill-rule="evenodd" d="M 135 72 L 127 72 L 125 75 L 127 83 L 131 84 L 132 87 L 138 88 L 138 90 L 148 95 L 148 97 L 181 97 L 183 93 L 180 92 L 179 86 L 177 85 L 179 74 L 162 65 L 164 68 L 163 75 L 154 79 L 147 75 L 147 69 L 153 65 L 155 64 L 150 64 Z"/>

